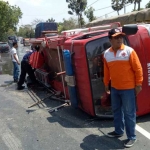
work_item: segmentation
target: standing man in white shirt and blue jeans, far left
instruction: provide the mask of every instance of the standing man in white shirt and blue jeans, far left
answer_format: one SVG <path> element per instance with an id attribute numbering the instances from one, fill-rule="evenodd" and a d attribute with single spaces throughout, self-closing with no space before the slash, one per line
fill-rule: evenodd
<path id="1" fill-rule="evenodd" d="M 11 49 L 11 58 L 12 58 L 12 62 L 13 62 L 13 78 L 14 78 L 14 82 L 18 82 L 18 77 L 19 77 L 19 59 L 18 59 L 18 55 L 16 52 L 16 49 L 18 48 L 18 44 L 17 42 L 13 42 L 13 47 Z"/>

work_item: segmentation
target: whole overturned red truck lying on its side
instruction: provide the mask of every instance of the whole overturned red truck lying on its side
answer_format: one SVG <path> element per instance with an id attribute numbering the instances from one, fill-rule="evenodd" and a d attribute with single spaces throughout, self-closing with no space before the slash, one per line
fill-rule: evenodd
<path id="1" fill-rule="evenodd" d="M 38 81 L 60 91 L 62 99 L 91 116 L 112 117 L 110 95 L 104 90 L 103 53 L 110 47 L 108 31 L 120 28 L 124 43 L 135 49 L 143 67 L 143 90 L 137 97 L 137 116 L 150 113 L 150 24 L 109 25 L 68 30 L 61 35 L 31 39 L 44 61 L 35 71 Z M 40 58 L 36 58 L 40 62 Z"/>

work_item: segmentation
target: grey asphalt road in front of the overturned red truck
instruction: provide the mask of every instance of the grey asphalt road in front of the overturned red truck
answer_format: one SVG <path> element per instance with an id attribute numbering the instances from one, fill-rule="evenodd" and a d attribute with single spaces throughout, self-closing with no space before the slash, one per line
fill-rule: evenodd
<path id="1" fill-rule="evenodd" d="M 21 58 L 25 49 L 19 45 Z M 16 90 L 12 82 L 12 68 L 9 54 L 2 56 L 8 65 L 10 75 L 0 75 L 0 150 L 121 150 L 126 135 L 121 138 L 108 138 L 107 132 L 113 131 L 112 119 L 92 118 L 80 109 L 65 106 L 50 113 L 49 110 L 61 102 L 47 99 L 45 103 L 32 108 L 37 99 L 47 92 Z M 10 61 L 11 62 L 11 61 Z M 6 65 L 6 66 L 7 66 Z M 150 114 L 137 118 L 136 133 L 138 141 L 131 150 L 150 149 Z"/>

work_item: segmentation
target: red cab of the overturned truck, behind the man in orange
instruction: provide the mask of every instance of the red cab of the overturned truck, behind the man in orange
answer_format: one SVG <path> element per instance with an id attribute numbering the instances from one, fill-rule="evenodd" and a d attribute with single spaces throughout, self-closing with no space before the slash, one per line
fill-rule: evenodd
<path id="1" fill-rule="evenodd" d="M 112 117 L 111 97 L 106 94 L 103 83 L 103 53 L 111 45 L 108 30 L 97 33 L 87 33 L 68 39 L 64 43 L 64 49 L 73 53 L 72 63 L 79 107 L 92 116 Z M 149 43 L 149 24 L 138 25 L 136 34 L 124 37 L 124 44 L 136 51 L 143 68 L 143 90 L 137 97 L 137 116 L 150 112 Z"/>

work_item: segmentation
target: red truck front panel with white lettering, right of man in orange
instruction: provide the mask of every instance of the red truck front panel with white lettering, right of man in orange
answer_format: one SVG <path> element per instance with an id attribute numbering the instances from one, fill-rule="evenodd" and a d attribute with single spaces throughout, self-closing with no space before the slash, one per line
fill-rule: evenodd
<path id="1" fill-rule="evenodd" d="M 137 97 L 137 115 L 143 115 L 150 111 L 150 85 L 148 85 L 150 82 L 148 82 L 147 67 L 148 63 L 150 64 L 150 36 L 145 28 L 139 27 L 137 34 L 128 38 L 130 46 L 136 51 L 143 68 L 143 90 Z"/>

